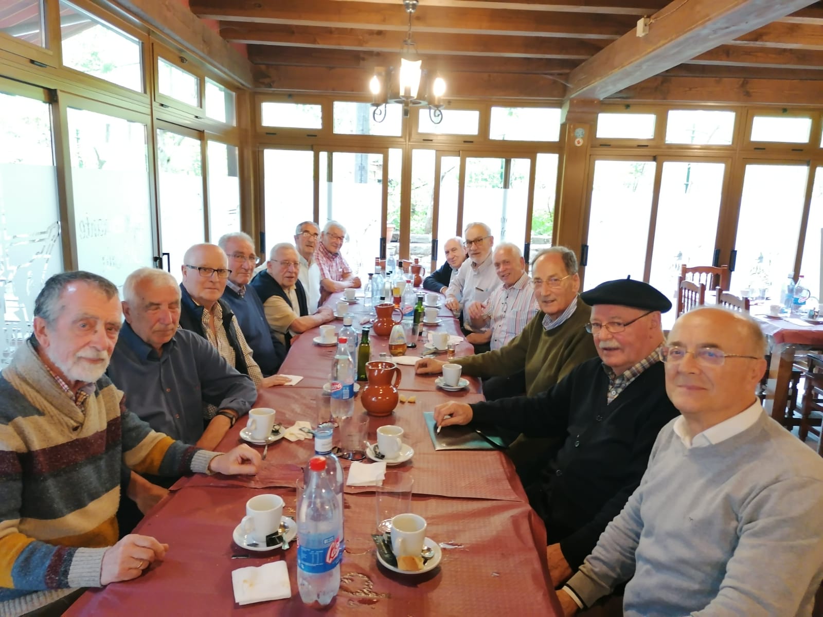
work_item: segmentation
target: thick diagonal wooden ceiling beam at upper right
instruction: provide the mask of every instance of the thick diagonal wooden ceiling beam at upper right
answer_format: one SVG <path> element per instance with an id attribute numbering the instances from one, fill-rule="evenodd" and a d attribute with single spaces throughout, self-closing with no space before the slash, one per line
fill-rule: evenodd
<path id="1" fill-rule="evenodd" d="M 648 35 L 632 30 L 575 68 L 569 97 L 604 99 L 812 3 L 676 0 L 652 16 Z"/>

